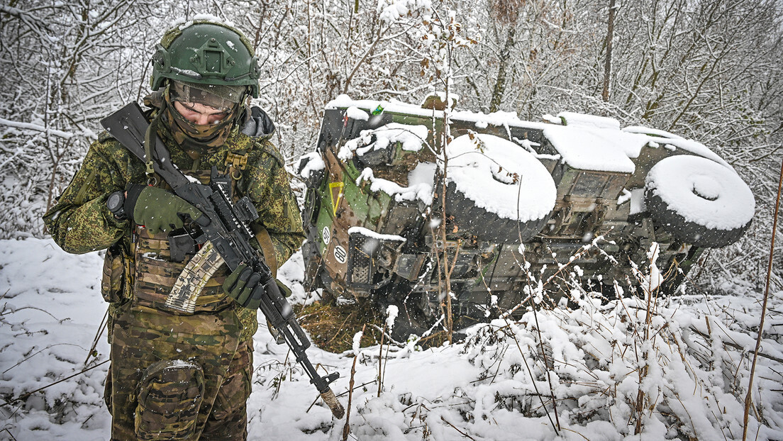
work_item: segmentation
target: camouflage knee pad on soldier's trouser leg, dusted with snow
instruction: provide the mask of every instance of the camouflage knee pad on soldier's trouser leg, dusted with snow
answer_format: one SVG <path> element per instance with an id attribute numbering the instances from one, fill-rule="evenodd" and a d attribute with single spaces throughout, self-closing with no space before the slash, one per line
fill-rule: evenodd
<path id="1" fill-rule="evenodd" d="M 204 371 L 191 361 L 158 361 L 144 371 L 138 397 L 138 439 L 191 439 L 204 399 Z"/>

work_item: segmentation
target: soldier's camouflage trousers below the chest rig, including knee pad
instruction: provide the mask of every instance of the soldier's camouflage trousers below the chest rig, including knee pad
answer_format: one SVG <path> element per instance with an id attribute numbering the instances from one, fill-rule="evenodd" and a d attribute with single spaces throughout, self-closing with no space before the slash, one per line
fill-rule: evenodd
<path id="1" fill-rule="evenodd" d="M 233 309 L 121 308 L 106 378 L 111 439 L 247 439 L 253 345 L 239 335 Z"/>

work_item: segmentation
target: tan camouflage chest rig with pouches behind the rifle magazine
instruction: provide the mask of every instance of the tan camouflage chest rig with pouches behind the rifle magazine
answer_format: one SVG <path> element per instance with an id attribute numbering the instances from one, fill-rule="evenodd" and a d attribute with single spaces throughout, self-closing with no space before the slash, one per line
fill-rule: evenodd
<path id="1" fill-rule="evenodd" d="M 207 170 L 185 172 L 200 183 L 209 183 L 211 179 L 226 179 L 229 196 L 236 201 L 235 179 L 229 178 L 233 170 L 226 175 L 218 176 Z M 161 186 L 166 186 L 162 183 Z M 224 187 L 225 188 L 225 187 Z M 151 308 L 179 315 L 189 315 L 179 308 L 171 308 L 169 294 L 182 270 L 196 255 L 198 246 L 196 240 L 185 230 L 175 230 L 171 233 L 151 234 L 143 226 L 135 227 L 135 278 L 133 282 L 134 305 L 141 308 Z M 204 284 L 196 299 L 192 313 L 217 312 L 233 305 L 233 300 L 222 292 L 222 284 L 229 275 L 228 268 L 221 266 Z"/>

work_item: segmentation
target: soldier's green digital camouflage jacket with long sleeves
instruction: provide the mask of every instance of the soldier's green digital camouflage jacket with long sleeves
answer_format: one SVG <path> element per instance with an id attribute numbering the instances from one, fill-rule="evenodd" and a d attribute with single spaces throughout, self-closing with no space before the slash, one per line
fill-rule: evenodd
<path id="1" fill-rule="evenodd" d="M 215 165 L 221 172 L 233 171 L 234 175 L 240 175 L 235 183 L 236 193 L 240 197 L 247 195 L 253 201 L 259 217 L 252 226 L 254 230 L 264 228 L 269 233 L 276 262 L 280 265 L 300 247 L 304 239 L 301 215 L 290 190 L 283 157 L 269 142 L 273 125 L 268 119 L 264 125 L 256 109 L 253 116 L 255 118 L 248 118 L 241 132 L 239 128 L 234 128 L 223 146 L 201 154 L 196 160 L 173 141 L 170 133 L 159 132 L 159 135 L 168 146 L 171 160 L 186 174 L 197 175 L 200 171 L 204 175 L 204 170 L 208 171 Z M 248 132 L 254 136 L 247 135 Z M 244 162 L 245 159 L 246 164 L 236 167 L 238 162 Z M 229 170 L 227 163 L 232 161 L 235 168 Z M 161 181 L 159 177 L 158 181 Z M 63 250 L 74 254 L 117 248 L 126 264 L 128 260 L 132 261 L 135 258 L 132 250 L 138 241 L 138 237 L 134 237 L 137 227 L 127 220 L 118 221 L 106 208 L 106 199 L 110 193 L 125 190 L 129 183 L 147 183 L 145 165 L 117 140 L 106 132 L 102 133 L 90 146 L 81 169 L 74 175 L 70 185 L 44 216 L 44 222 L 56 243 Z M 152 262 L 154 265 L 155 261 Z M 167 263 L 161 262 L 160 266 L 164 267 Z M 107 301 L 119 304 L 134 297 L 134 286 L 132 282 L 128 283 L 128 273 L 134 277 L 134 268 L 136 272 L 139 268 L 133 262 L 128 268 L 125 280 L 118 282 L 124 286 L 120 290 L 120 297 L 107 298 L 104 292 Z M 155 272 L 155 269 L 152 271 Z M 226 295 L 222 293 L 219 281 L 211 283 L 211 286 L 212 294 L 224 298 L 225 302 Z M 116 309 L 117 305 L 114 306 Z M 243 337 L 248 338 L 258 326 L 256 312 L 240 310 L 237 313 L 244 326 Z"/>

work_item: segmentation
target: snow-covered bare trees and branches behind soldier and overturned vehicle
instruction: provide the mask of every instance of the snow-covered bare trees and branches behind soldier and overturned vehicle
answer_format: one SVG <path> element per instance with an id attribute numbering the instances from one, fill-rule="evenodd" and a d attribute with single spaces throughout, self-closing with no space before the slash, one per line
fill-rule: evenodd
<path id="1" fill-rule="evenodd" d="M 0 238 L 45 235 L 41 215 L 99 119 L 146 95 L 153 46 L 198 13 L 252 40 L 256 103 L 290 164 L 313 149 L 324 104 L 340 94 L 420 103 L 447 86 L 458 108 L 530 121 L 598 114 L 705 143 L 749 183 L 756 218 L 691 279 L 763 281 L 783 157 L 777 0 L 10 0 L 0 5 Z"/>

